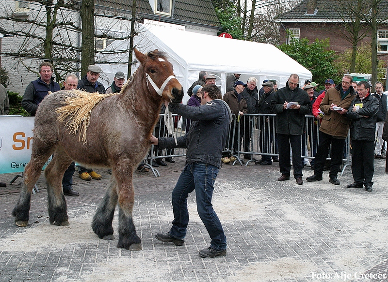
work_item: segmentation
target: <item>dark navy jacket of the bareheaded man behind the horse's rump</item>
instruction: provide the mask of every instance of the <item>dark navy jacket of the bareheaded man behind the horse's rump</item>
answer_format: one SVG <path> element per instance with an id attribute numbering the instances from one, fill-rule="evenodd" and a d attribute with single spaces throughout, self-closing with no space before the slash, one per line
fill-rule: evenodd
<path id="1" fill-rule="evenodd" d="M 51 77 L 50 84 L 47 84 L 39 77 L 27 86 L 21 105 L 32 117 L 35 117 L 40 102 L 49 94 L 49 91 L 56 92 L 60 88 L 59 84 L 54 81 L 54 77 Z"/>

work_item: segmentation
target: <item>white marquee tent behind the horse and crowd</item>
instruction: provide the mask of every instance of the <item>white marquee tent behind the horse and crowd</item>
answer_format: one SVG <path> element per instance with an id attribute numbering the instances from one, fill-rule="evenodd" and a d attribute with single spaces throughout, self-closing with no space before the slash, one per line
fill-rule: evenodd
<path id="1" fill-rule="evenodd" d="M 129 46 L 129 39 L 114 41 L 107 49 L 124 50 Z M 216 74 L 216 84 L 226 91 L 226 77 L 230 74 L 242 74 L 240 80 L 246 82 L 255 76 L 259 83 L 264 79 L 276 79 L 278 87 L 286 84 L 290 74 L 299 74 L 300 82 L 311 80 L 311 72 L 280 51 L 274 45 L 235 40 L 183 30 L 148 27 L 139 25 L 139 35 L 135 37 L 136 48 L 145 53 L 154 49 L 166 53 L 174 66 L 174 74 L 185 92 L 198 79 L 202 70 Z M 111 56 L 111 57 L 109 57 Z M 114 56 L 114 57 L 113 57 Z M 117 57 L 127 59 L 128 54 L 105 55 L 106 60 L 117 61 Z M 127 59 L 128 60 L 128 59 Z M 117 71 L 127 74 L 127 65 L 101 65 L 104 75 L 110 80 Z M 132 66 L 132 72 L 137 65 Z M 258 83 L 258 88 L 260 85 Z M 108 85 L 106 85 L 108 86 Z M 184 103 L 189 99 L 185 95 Z"/>

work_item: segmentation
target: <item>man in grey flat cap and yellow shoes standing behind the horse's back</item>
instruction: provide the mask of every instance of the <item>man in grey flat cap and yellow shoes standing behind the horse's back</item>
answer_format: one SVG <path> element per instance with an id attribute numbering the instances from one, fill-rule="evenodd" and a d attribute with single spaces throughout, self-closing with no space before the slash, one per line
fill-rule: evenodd
<path id="1" fill-rule="evenodd" d="M 102 72 L 101 68 L 97 65 L 89 65 L 88 72 L 85 76 L 81 78 L 78 82 L 77 89 L 85 90 L 90 93 L 99 92 L 105 93 L 105 87 L 97 81 L 100 77 L 100 73 Z M 78 173 L 82 180 L 90 181 L 92 179 L 101 179 L 102 176 L 93 169 L 87 169 L 83 166 L 80 166 L 78 169 Z"/>

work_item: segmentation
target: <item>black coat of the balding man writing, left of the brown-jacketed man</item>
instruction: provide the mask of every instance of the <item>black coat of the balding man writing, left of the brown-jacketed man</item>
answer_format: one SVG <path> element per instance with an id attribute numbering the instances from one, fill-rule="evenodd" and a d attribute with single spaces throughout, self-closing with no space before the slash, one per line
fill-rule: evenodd
<path id="1" fill-rule="evenodd" d="M 283 109 L 284 102 L 298 102 L 299 109 Z M 286 86 L 277 90 L 271 101 L 271 110 L 276 114 L 276 133 L 288 135 L 302 135 L 305 125 L 305 115 L 312 111 L 310 98 L 299 85 L 291 90 L 288 82 Z"/>

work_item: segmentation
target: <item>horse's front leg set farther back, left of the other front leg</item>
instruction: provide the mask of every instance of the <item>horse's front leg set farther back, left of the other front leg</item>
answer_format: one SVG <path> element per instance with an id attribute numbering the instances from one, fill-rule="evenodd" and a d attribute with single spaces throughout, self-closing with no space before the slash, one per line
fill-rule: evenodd
<path id="1" fill-rule="evenodd" d="M 97 236 L 104 240 L 113 240 L 113 215 L 117 205 L 116 180 L 113 175 L 108 184 L 106 193 L 101 203 L 98 205 L 93 217 L 92 229 Z"/>

